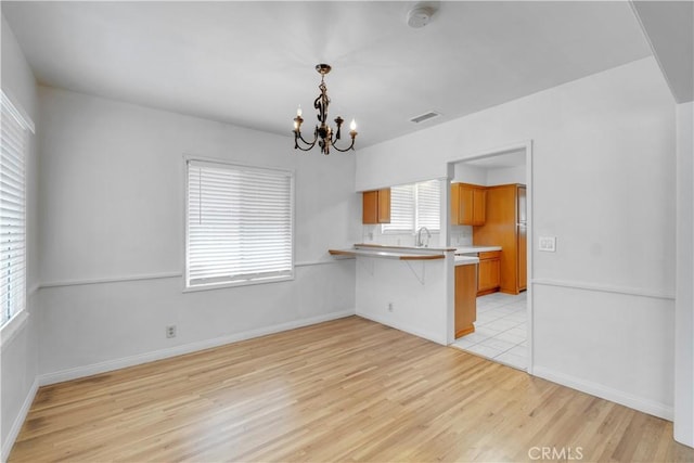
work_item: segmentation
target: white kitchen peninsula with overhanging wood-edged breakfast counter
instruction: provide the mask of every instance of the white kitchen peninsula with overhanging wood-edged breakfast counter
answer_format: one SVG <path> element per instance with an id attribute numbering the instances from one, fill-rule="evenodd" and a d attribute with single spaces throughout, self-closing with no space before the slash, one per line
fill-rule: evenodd
<path id="1" fill-rule="evenodd" d="M 475 319 L 475 284 L 457 290 L 455 267 L 474 266 L 476 257 L 455 256 L 453 247 L 356 244 L 329 249 L 336 258 L 357 259 L 357 314 L 441 345 L 455 338 L 458 325 Z M 471 268 L 476 274 L 476 269 Z M 466 272 L 471 273 L 471 272 Z M 459 278 L 461 284 L 463 280 Z M 462 310 L 465 303 L 465 312 Z M 459 303 L 459 304 L 457 304 Z"/>

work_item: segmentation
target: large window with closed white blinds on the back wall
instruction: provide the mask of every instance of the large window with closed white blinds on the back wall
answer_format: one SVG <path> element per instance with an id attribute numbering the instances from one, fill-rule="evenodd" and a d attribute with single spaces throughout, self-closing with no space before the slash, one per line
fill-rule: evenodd
<path id="1" fill-rule="evenodd" d="M 185 287 L 294 278 L 294 175 L 187 160 Z"/>

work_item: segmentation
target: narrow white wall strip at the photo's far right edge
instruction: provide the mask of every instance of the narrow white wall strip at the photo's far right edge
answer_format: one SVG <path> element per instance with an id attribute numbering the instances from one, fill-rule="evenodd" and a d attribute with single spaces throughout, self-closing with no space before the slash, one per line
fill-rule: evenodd
<path id="1" fill-rule="evenodd" d="M 694 447 L 694 103 L 677 107 L 674 438 Z"/>

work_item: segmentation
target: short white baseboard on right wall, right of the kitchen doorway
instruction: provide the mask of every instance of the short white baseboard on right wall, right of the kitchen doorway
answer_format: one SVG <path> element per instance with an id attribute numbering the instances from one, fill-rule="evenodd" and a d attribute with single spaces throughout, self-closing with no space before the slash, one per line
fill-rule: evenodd
<path id="1" fill-rule="evenodd" d="M 630 409 L 639 410 L 640 412 L 647 413 L 650 415 L 661 417 L 664 420 L 672 421 L 674 419 L 674 409 L 671 406 L 655 402 L 643 397 L 633 396 L 602 384 L 584 381 L 538 365 L 535 365 L 532 369 L 532 375 L 570 387 L 571 389 L 580 390 L 581 393 L 590 394 L 591 396 L 600 397 L 601 399 L 629 407 Z"/>

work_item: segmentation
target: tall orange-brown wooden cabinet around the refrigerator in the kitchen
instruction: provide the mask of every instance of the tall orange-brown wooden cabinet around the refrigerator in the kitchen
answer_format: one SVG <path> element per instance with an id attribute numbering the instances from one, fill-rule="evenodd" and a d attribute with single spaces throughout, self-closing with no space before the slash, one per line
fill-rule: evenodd
<path id="1" fill-rule="evenodd" d="M 487 217 L 484 226 L 473 229 L 473 244 L 501 246 L 499 288 L 502 293 L 518 294 L 527 288 L 526 220 L 525 185 L 487 188 Z"/>

